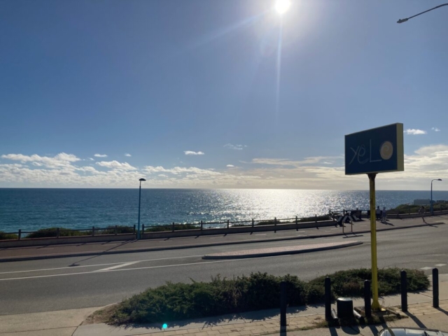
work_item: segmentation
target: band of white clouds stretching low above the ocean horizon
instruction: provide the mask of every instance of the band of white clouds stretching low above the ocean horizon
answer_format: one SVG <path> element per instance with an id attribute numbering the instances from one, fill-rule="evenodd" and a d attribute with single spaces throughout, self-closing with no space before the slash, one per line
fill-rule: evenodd
<path id="1" fill-rule="evenodd" d="M 343 156 L 302 160 L 253 158 L 241 167 L 133 167 L 127 162 L 80 160 L 76 155 L 0 156 L 0 187 L 134 188 L 291 188 L 368 189 L 365 175 L 345 176 Z M 9 161 L 9 162 L 8 162 Z M 93 164 L 94 163 L 94 164 Z M 229 169 L 231 168 L 231 169 Z M 430 179 L 448 180 L 448 145 L 422 146 L 405 155 L 405 172 L 379 174 L 379 190 L 426 190 Z M 447 190 L 440 183 L 438 190 Z"/>

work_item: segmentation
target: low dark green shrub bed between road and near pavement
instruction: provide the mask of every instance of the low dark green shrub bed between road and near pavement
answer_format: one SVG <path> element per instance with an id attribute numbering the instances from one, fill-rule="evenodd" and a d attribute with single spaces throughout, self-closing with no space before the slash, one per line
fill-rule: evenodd
<path id="1" fill-rule="evenodd" d="M 379 269 L 379 293 L 399 293 L 400 270 Z M 428 278 L 423 272 L 406 270 L 409 292 L 429 287 Z M 370 269 L 351 269 L 329 276 L 332 279 L 333 297 L 362 296 L 363 281 L 371 278 Z M 258 272 L 232 279 L 218 275 L 209 282 L 167 282 L 157 288 L 148 288 L 117 304 L 109 311 L 109 323 L 166 323 L 278 308 L 281 281 L 286 281 L 286 297 L 290 306 L 322 303 L 325 293 L 324 279 L 325 276 L 320 276 L 305 282 L 289 274 L 274 276 Z"/>

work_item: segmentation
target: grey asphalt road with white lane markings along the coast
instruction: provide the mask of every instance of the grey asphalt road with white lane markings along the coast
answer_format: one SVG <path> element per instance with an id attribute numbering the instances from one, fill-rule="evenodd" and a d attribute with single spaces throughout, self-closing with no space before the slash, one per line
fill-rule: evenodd
<path id="1" fill-rule="evenodd" d="M 291 232 L 291 235 L 300 232 Z M 448 225 L 378 232 L 378 266 L 438 267 L 448 273 Z M 363 241 L 360 246 L 244 260 L 203 260 L 202 255 L 244 249 Z M 303 280 L 341 269 L 370 267 L 370 234 L 209 246 L 169 251 L 58 258 L 0 264 L 0 315 L 97 307 L 166 281 L 208 281 L 251 272 L 295 274 Z M 446 269 L 445 269 L 446 268 Z"/>

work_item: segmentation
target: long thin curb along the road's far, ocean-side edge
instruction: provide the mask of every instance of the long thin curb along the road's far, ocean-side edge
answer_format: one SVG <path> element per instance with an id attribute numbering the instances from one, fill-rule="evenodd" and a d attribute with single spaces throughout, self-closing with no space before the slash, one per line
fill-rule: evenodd
<path id="1" fill-rule="evenodd" d="M 418 224 L 418 225 L 406 225 L 400 227 L 393 228 L 381 228 L 377 229 L 377 232 L 380 231 L 389 231 L 389 230 L 401 230 L 408 228 L 421 228 L 424 226 L 431 225 L 440 225 L 445 224 L 444 222 L 430 223 L 430 224 Z M 352 237 L 356 237 L 357 234 L 367 233 L 370 230 L 362 230 L 353 232 Z M 209 246 L 223 246 L 223 245 L 237 245 L 237 244 L 248 244 L 248 243 L 262 243 L 262 242 L 271 242 L 271 241 L 285 241 L 285 240 L 299 240 L 299 239 L 317 239 L 317 238 L 325 238 L 325 237 L 337 237 L 337 236 L 348 236 L 350 237 L 351 232 L 346 233 L 329 233 L 326 235 L 311 235 L 311 236 L 300 236 L 300 237 L 285 237 L 285 238 L 270 238 L 270 239 L 257 239 L 257 240 L 244 240 L 244 241 L 227 241 L 221 243 L 210 243 L 210 244 L 195 244 L 195 245 L 185 245 L 185 246 L 167 246 L 167 247 L 148 247 L 148 248 L 136 248 L 136 249 L 128 249 L 128 250 L 118 250 L 118 251 L 94 251 L 94 252 L 84 252 L 84 253 L 65 253 L 65 254 L 47 254 L 47 255 L 27 255 L 23 257 L 8 257 L 8 258 L 0 258 L 1 262 L 11 262 L 11 261 L 26 261 L 26 260 L 43 260 L 43 259 L 56 259 L 56 258 L 70 258 L 70 257 L 83 257 L 89 255 L 110 255 L 110 254 L 123 254 L 123 253 L 139 253 L 139 252 L 151 252 L 151 251 L 167 251 L 167 250 L 181 250 L 185 248 L 198 248 L 198 247 L 209 247 Z M 149 240 L 149 239 L 148 239 Z"/>

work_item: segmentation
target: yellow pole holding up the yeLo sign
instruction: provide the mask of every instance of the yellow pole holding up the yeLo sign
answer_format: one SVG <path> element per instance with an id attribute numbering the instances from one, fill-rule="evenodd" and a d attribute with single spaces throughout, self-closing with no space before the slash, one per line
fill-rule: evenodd
<path id="1" fill-rule="evenodd" d="M 377 173 L 367 174 L 370 181 L 370 240 L 372 248 L 372 309 L 381 310 L 378 301 L 378 265 L 377 265 L 377 214 L 375 212 L 375 177 Z"/>

